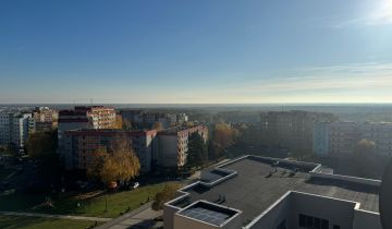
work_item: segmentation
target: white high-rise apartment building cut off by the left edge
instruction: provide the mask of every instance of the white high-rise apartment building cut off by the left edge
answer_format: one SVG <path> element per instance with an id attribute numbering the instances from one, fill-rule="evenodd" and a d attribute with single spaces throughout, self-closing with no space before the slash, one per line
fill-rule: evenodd
<path id="1" fill-rule="evenodd" d="M 0 112 L 0 145 L 13 144 L 23 148 L 28 137 L 30 113 Z"/>

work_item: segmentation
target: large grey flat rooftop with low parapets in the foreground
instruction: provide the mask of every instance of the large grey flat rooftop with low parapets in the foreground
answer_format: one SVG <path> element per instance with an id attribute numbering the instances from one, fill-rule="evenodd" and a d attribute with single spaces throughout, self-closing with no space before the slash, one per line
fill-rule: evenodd
<path id="1" fill-rule="evenodd" d="M 236 171 L 236 176 L 210 188 L 197 184 L 184 192 L 189 193 L 187 201 L 174 203 L 184 207 L 187 204 L 205 200 L 243 212 L 243 224 L 246 224 L 289 191 L 298 191 L 316 195 L 341 198 L 360 203 L 360 209 L 379 212 L 378 188 L 333 179 L 313 178 L 313 168 L 293 165 L 272 165 L 270 161 L 245 157 L 220 169 Z M 219 179 L 220 174 L 211 178 Z M 208 180 L 210 181 L 210 180 Z"/>

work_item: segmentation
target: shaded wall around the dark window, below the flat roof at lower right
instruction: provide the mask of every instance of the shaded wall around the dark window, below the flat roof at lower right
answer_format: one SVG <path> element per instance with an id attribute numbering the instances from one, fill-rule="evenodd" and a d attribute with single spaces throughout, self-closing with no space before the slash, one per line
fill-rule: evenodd
<path id="1" fill-rule="evenodd" d="M 303 229 L 298 225 L 299 214 L 327 219 L 330 229 L 334 225 L 342 229 L 353 228 L 355 202 L 298 192 L 292 192 L 291 195 L 290 218 L 287 220 L 291 229 Z"/>

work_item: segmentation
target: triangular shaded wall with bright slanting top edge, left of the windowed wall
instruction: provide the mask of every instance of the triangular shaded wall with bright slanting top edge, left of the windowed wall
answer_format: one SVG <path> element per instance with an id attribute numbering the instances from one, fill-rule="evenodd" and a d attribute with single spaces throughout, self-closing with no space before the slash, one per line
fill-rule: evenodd
<path id="1" fill-rule="evenodd" d="M 290 206 L 291 193 L 289 192 L 271 205 L 266 212 L 259 215 L 253 222 L 247 225 L 245 229 L 274 229 L 284 219 L 287 222 L 287 228 L 291 228 L 287 220 Z"/>

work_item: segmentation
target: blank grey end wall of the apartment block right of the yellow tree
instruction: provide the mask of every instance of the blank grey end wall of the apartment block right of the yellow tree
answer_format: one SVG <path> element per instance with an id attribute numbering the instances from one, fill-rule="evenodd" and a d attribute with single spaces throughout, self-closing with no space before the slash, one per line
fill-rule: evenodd
<path id="1" fill-rule="evenodd" d="M 158 164 L 163 167 L 177 166 L 177 136 L 159 135 L 158 136 Z"/>

